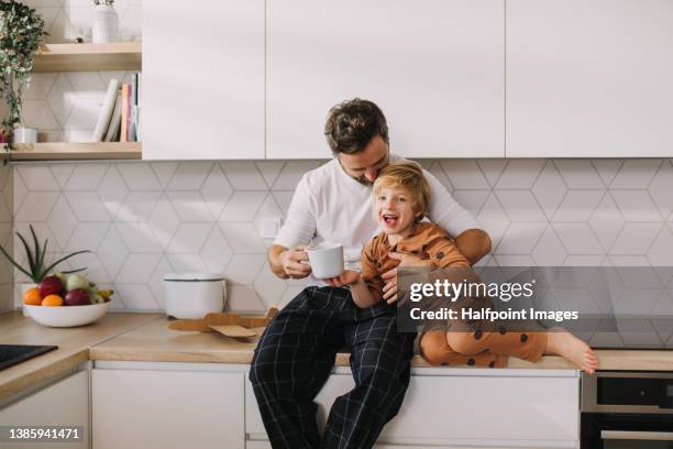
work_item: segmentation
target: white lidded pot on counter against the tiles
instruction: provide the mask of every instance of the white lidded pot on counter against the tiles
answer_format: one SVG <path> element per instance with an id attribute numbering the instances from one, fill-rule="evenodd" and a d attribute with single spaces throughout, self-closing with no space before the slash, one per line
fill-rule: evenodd
<path id="1" fill-rule="evenodd" d="M 203 318 L 222 311 L 227 299 L 220 273 L 168 273 L 164 275 L 166 315 L 180 319 Z"/>

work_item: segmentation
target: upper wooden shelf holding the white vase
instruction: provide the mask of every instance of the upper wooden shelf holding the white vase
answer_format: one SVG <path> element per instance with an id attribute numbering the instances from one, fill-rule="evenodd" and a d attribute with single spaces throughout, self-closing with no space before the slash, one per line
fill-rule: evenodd
<path id="1" fill-rule="evenodd" d="M 35 55 L 34 72 L 140 70 L 142 43 L 46 44 Z"/>

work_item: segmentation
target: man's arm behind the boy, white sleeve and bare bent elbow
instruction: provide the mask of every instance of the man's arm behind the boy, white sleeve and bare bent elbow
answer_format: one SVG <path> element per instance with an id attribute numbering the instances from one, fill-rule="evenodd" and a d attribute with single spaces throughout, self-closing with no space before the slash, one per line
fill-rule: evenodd
<path id="1" fill-rule="evenodd" d="M 428 171 L 423 174 L 432 193 L 430 221 L 443 228 L 454 239 L 459 251 L 474 265 L 490 252 L 490 237 L 434 175 Z"/>

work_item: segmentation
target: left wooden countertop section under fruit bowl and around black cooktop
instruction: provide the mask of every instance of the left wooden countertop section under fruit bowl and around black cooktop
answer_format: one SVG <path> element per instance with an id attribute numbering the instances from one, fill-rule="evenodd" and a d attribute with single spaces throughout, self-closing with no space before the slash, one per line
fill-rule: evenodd
<path id="1" fill-rule="evenodd" d="M 21 311 L 0 314 L 0 343 L 56 344 L 58 349 L 0 371 L 0 401 L 89 360 L 89 348 L 150 321 L 158 314 L 108 314 L 89 326 L 48 328 Z"/>

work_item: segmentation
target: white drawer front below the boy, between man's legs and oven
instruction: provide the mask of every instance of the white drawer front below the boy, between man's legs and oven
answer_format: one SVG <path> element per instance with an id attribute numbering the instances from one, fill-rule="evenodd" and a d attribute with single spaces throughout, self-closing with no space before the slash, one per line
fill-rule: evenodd
<path id="1" fill-rule="evenodd" d="M 413 376 L 387 437 L 578 439 L 577 377 Z"/>

